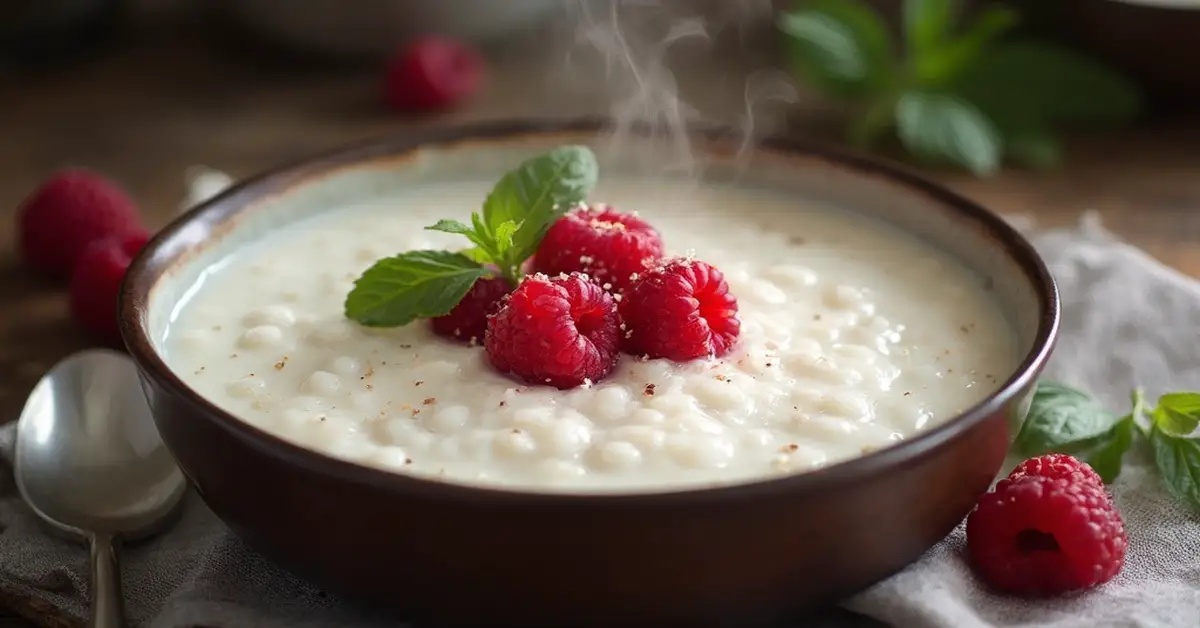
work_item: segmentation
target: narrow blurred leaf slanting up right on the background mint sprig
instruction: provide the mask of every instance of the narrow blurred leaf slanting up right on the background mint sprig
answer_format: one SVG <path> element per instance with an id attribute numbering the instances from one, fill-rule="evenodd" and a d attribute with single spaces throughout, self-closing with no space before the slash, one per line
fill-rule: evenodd
<path id="1" fill-rule="evenodd" d="M 1012 8 L 995 5 L 980 8 L 961 35 L 937 49 L 918 52 L 911 59 L 918 84 L 925 88 L 949 85 L 1018 22 L 1018 14 Z"/>

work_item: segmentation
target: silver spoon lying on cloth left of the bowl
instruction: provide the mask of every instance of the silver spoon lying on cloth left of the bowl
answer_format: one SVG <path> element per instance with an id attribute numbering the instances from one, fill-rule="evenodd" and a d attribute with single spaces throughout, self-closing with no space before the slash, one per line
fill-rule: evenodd
<path id="1" fill-rule="evenodd" d="M 186 488 L 133 363 L 94 349 L 50 369 L 20 413 L 13 468 L 38 516 L 91 545 L 89 626 L 125 626 L 119 542 L 161 530 Z"/>

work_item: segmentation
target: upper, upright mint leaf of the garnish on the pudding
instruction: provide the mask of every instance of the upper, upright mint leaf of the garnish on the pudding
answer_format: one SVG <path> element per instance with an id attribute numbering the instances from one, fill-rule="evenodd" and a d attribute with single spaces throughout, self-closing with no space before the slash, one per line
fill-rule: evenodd
<path id="1" fill-rule="evenodd" d="M 559 146 L 521 163 L 505 174 L 487 195 L 481 217 L 473 216 L 475 231 L 499 245 L 505 223 L 516 226 L 503 251 L 500 268 L 508 274 L 538 250 L 550 225 L 587 198 L 596 185 L 600 167 L 587 146 Z"/>

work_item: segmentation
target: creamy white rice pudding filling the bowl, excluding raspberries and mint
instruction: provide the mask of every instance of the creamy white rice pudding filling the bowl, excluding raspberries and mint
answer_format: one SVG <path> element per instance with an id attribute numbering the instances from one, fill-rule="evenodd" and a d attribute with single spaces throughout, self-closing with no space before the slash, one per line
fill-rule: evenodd
<path id="1" fill-rule="evenodd" d="M 888 226 L 733 187 L 607 180 L 670 253 L 720 268 L 740 306 L 728 355 L 625 355 L 557 390 L 496 372 L 427 322 L 368 329 L 342 304 L 377 258 L 461 249 L 490 183 L 415 190 L 281 229 L 208 271 L 164 345 L 242 420 L 358 463 L 526 490 L 656 491 L 804 472 L 937 425 L 1015 367 L 983 280 Z"/>

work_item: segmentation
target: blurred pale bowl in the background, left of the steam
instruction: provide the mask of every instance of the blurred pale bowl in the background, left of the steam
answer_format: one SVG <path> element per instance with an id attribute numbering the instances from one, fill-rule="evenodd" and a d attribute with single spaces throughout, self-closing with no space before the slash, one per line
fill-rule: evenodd
<path id="1" fill-rule="evenodd" d="M 488 44 L 541 25 L 571 0 L 223 0 L 241 25 L 293 48 L 378 56 L 422 35 Z"/>

